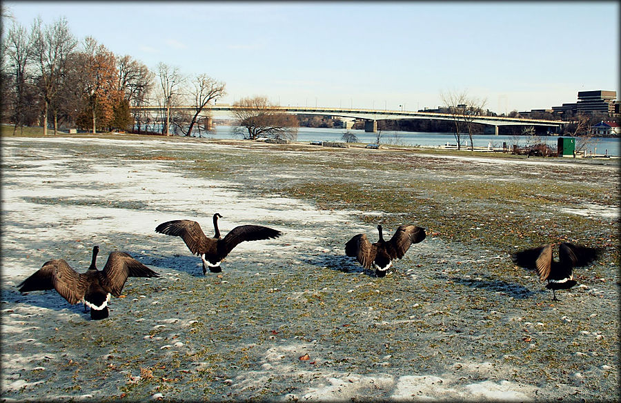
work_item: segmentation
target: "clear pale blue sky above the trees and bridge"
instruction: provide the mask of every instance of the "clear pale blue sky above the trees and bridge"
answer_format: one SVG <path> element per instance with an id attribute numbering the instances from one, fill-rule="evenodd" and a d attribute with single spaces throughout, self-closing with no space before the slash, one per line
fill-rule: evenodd
<path id="1" fill-rule="evenodd" d="M 155 70 L 224 81 L 219 103 L 435 108 L 467 91 L 495 112 L 619 89 L 618 1 L 4 1 L 23 26 L 66 17 L 80 40 Z M 6 21 L 3 21 L 3 23 Z"/>

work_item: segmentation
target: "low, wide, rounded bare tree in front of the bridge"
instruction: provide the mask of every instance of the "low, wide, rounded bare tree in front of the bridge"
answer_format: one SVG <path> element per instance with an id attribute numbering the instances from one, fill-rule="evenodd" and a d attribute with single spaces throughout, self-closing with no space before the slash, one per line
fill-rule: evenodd
<path id="1" fill-rule="evenodd" d="M 277 112 L 269 104 L 267 97 L 243 98 L 233 105 L 233 115 L 237 119 L 237 132 L 244 139 L 259 137 L 274 139 L 296 139 L 299 126 L 293 115 Z M 245 129 L 245 130 L 244 130 Z"/>

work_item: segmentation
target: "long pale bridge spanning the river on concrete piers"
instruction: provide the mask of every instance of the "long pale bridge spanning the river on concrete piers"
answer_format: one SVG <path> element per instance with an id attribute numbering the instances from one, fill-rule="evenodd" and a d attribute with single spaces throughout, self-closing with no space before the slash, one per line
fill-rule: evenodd
<path id="1" fill-rule="evenodd" d="M 145 110 L 148 112 L 161 112 L 161 106 L 132 106 L 130 110 Z M 183 110 L 194 112 L 193 106 L 172 106 L 170 110 Z M 248 107 L 220 104 L 207 105 L 201 111 L 205 116 L 226 116 L 230 117 L 235 110 L 248 110 Z M 330 108 L 330 107 L 308 107 L 308 106 L 269 106 L 267 108 L 257 108 L 265 112 L 290 113 L 293 115 L 328 115 L 335 117 L 351 117 L 365 121 L 364 131 L 376 132 L 377 121 L 385 119 L 428 119 L 428 120 L 455 120 L 450 113 L 442 112 L 415 112 L 411 110 L 386 110 L 386 109 L 361 109 L 361 108 Z M 499 116 L 475 116 L 469 117 L 473 123 L 489 126 L 494 129 L 495 135 L 498 134 L 499 126 L 544 126 L 558 132 L 563 125 L 569 121 L 547 120 L 547 119 L 525 119 L 521 117 L 499 117 Z M 463 120 L 463 119 L 462 119 Z"/>

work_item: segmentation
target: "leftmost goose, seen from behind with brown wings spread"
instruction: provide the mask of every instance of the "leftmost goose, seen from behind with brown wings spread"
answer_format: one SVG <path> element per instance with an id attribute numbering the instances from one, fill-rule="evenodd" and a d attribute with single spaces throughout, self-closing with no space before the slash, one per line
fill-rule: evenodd
<path id="1" fill-rule="evenodd" d="M 77 273 L 64 259 L 45 262 L 38 271 L 17 287 L 20 293 L 56 289 L 70 304 L 84 302 L 90 308 L 90 318 L 108 317 L 110 294 L 121 295 L 127 277 L 159 277 L 155 271 L 124 252 L 112 252 L 103 270 L 97 270 L 99 246 L 92 248 L 92 261 L 86 273 Z"/>

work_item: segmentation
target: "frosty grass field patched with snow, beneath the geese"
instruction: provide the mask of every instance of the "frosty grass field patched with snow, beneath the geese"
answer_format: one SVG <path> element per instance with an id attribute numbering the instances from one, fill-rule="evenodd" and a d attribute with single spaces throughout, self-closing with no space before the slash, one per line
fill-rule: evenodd
<path id="1" fill-rule="evenodd" d="M 161 137 L 3 137 L 2 399 L 615 400 L 615 161 L 476 157 Z M 178 237 L 259 224 L 204 276 Z M 344 256 L 357 233 L 426 228 L 377 278 Z M 600 246 L 551 301 L 517 248 Z M 124 250 L 130 278 L 95 322 L 16 285 L 49 259 L 86 270 Z"/>

